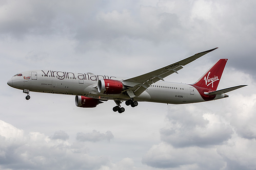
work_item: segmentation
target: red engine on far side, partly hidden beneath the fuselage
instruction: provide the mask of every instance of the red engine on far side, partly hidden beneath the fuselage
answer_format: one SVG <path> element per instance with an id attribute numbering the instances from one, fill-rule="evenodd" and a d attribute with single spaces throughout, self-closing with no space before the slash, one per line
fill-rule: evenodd
<path id="1" fill-rule="evenodd" d="M 100 103 L 103 103 L 99 99 L 87 98 L 86 96 L 75 96 L 75 106 L 77 107 L 96 107 Z"/>

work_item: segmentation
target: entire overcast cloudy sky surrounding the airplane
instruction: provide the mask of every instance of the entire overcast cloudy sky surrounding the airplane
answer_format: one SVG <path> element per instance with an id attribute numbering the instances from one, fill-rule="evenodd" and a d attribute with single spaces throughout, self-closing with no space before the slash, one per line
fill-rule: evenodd
<path id="1" fill-rule="evenodd" d="M 0 0 L 0 169 L 256 169 L 256 2 Z M 188 105 L 113 101 L 6 82 L 31 69 L 133 77 L 219 47 L 166 81 L 193 83 L 228 58 L 229 98 Z"/>

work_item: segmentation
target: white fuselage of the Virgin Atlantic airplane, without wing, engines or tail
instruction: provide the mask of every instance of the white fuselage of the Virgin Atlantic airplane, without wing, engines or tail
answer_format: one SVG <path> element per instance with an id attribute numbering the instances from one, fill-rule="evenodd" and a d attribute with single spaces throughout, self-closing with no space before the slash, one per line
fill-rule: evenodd
<path id="1" fill-rule="evenodd" d="M 102 94 L 97 91 L 97 82 L 100 79 L 122 80 L 114 76 L 77 74 L 65 71 L 32 70 L 22 72 L 22 76 L 14 76 L 8 84 L 17 89 L 28 89 L 34 92 L 83 95 L 101 100 L 129 100 L 126 94 Z M 218 94 L 213 100 L 224 98 Z M 205 102 L 200 92 L 192 85 L 172 82 L 156 82 L 148 87 L 141 95 L 135 96 L 136 101 L 186 104 Z"/>

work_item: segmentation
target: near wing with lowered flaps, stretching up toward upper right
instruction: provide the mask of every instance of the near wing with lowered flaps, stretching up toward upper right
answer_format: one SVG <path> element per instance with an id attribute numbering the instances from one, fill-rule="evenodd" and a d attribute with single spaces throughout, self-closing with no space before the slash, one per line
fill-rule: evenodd
<path id="1" fill-rule="evenodd" d="M 154 71 L 148 72 L 144 75 L 140 75 L 140 76 L 136 76 L 133 78 L 128 78 L 128 79 L 124 79 L 124 82 L 132 82 L 132 83 L 137 83 L 137 85 L 133 86 L 130 88 L 129 90 L 129 94 L 128 95 L 130 97 L 134 97 L 134 94 L 136 96 L 139 96 L 143 91 L 145 91 L 151 84 L 159 81 L 159 80 L 163 80 L 164 78 L 173 74 L 174 72 L 176 72 L 178 74 L 178 70 L 182 69 L 184 65 L 187 65 L 188 63 L 202 57 L 203 55 L 212 52 L 213 50 L 216 50 L 218 47 L 215 47 L 211 50 L 207 50 L 205 52 L 201 52 L 198 54 L 195 54 L 193 56 L 190 56 L 186 59 L 183 59 L 181 61 L 172 63 L 170 65 L 167 65 L 165 67 L 156 69 Z M 132 94 L 132 92 L 134 94 Z"/>

